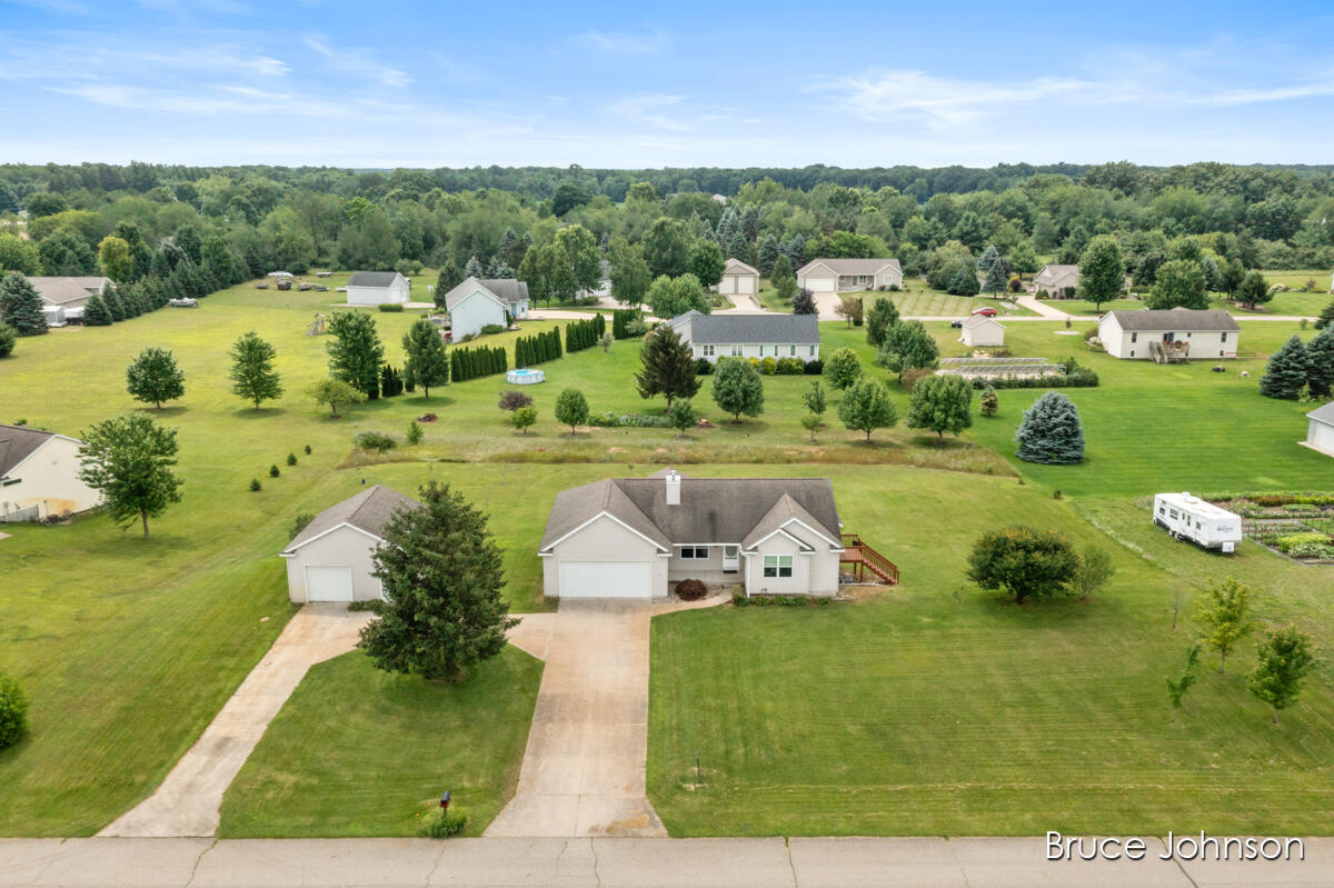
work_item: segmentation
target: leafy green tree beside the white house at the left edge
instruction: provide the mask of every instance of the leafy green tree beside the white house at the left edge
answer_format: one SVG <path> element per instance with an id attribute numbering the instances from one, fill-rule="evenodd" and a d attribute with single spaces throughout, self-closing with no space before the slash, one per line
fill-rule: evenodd
<path id="1" fill-rule="evenodd" d="M 117 524 L 143 524 L 172 503 L 180 503 L 176 429 L 163 428 L 144 413 L 125 413 L 80 433 L 79 480 L 101 492 L 103 504 Z"/>

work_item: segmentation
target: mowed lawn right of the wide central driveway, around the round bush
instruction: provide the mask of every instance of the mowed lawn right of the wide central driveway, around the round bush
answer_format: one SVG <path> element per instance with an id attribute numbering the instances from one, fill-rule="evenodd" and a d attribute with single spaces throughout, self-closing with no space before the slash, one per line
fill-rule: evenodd
<path id="1" fill-rule="evenodd" d="M 1189 621 L 1170 628 L 1175 585 L 1263 581 L 1262 619 L 1301 617 L 1327 648 L 1327 568 L 1250 544 L 1234 559 L 1174 544 L 1122 500 L 1091 512 L 1173 576 L 1034 485 L 894 467 L 832 475 L 848 529 L 904 583 L 832 607 L 654 620 L 648 792 L 672 835 L 1329 829 L 1329 676 L 1278 728 L 1245 688 L 1250 643 L 1227 676 L 1206 655 L 1177 724 L 1163 691 L 1190 641 Z M 1015 520 L 1107 549 L 1119 573 L 1089 601 L 1017 607 L 970 587 L 967 545 Z"/>

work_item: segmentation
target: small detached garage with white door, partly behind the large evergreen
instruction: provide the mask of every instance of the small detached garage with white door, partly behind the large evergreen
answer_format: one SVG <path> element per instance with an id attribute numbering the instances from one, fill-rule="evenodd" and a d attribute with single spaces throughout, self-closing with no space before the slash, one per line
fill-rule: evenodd
<path id="1" fill-rule="evenodd" d="M 292 601 L 372 601 L 383 585 L 371 575 L 372 556 L 384 543 L 384 525 L 399 509 L 420 503 L 376 484 L 316 515 L 281 557 Z"/>

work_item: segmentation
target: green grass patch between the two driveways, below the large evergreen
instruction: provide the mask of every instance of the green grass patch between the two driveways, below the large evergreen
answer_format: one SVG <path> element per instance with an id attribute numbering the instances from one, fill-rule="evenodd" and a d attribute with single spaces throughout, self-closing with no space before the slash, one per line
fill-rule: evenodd
<path id="1" fill-rule="evenodd" d="M 458 685 L 360 651 L 321 663 L 228 789 L 219 836 L 412 836 L 444 789 L 479 836 L 514 795 L 540 679 L 518 648 Z"/>

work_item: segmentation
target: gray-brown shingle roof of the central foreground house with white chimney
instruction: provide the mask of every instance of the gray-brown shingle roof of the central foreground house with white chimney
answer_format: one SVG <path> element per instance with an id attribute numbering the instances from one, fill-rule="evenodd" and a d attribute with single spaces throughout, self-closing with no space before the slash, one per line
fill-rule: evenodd
<path id="1" fill-rule="evenodd" d="M 652 477 L 608 479 L 556 495 L 540 551 L 606 511 L 659 545 L 739 544 L 770 523 L 800 517 L 831 540 L 839 539 L 834 485 L 827 477 L 682 477 L 680 504 L 667 505 L 662 472 Z M 783 500 L 790 500 L 783 503 Z M 779 520 L 780 519 L 780 520 Z M 774 529 L 768 528 L 768 531 Z M 759 533 L 755 539 L 767 535 Z M 803 541 L 820 544 L 816 539 Z"/>

